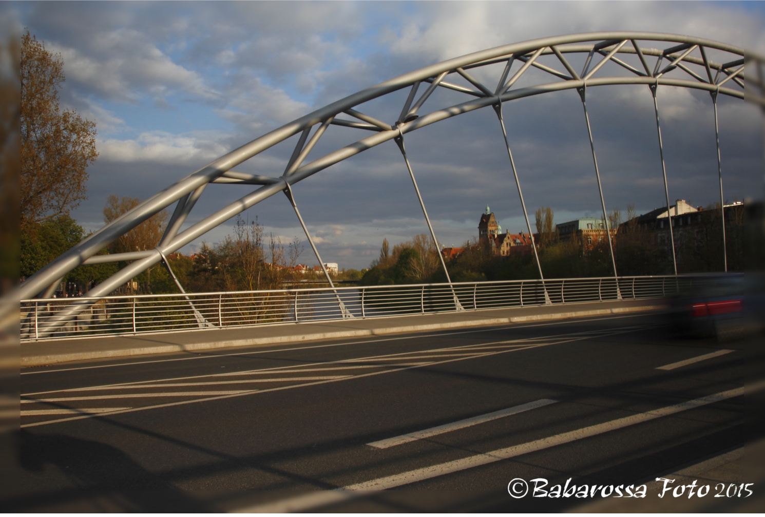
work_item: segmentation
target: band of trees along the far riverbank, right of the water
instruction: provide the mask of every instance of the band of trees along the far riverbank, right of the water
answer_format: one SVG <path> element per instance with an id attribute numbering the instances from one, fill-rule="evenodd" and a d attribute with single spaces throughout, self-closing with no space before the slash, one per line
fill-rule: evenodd
<path id="1" fill-rule="evenodd" d="M 721 225 L 719 205 L 708 206 L 703 212 L 709 220 L 703 229 L 696 230 L 692 238 L 688 233 L 679 239 L 675 236 L 679 273 L 722 271 Z M 728 210 L 726 210 L 728 214 Z M 614 259 L 620 276 L 669 275 L 672 274 L 672 254 L 666 245 L 656 242 L 651 230 L 641 227 L 634 206 L 628 206 L 626 223 L 620 210 L 608 214 L 612 229 Z M 614 266 L 603 238 L 593 245 L 583 241 L 581 235 L 562 239 L 555 230 L 553 212 L 547 207 L 536 211 L 537 232 L 535 242 L 539 265 L 545 278 L 584 278 L 614 275 Z M 726 215 L 728 242 L 728 270 L 743 268 L 743 206 Z M 465 242 L 459 255 L 448 258 L 446 266 L 451 281 L 500 281 L 539 278 L 539 268 L 531 249 L 506 256 L 496 255 L 490 241 Z M 415 283 L 440 283 L 446 281 L 435 246 L 429 236 L 421 234 L 408 242 L 396 244 L 390 249 L 387 239 L 382 241 L 379 258 L 363 276 L 361 285 L 393 285 Z"/>

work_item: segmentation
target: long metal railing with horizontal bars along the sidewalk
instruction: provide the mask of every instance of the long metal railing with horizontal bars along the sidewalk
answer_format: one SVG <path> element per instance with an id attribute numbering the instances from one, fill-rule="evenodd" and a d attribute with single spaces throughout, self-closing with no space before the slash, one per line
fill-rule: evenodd
<path id="1" fill-rule="evenodd" d="M 552 304 L 661 298 L 698 281 L 703 280 L 675 276 L 565 278 L 32 299 L 21 301 L 21 341 L 527 307 L 544 305 L 545 291 Z M 75 303 L 86 308 L 62 319 L 60 315 Z"/>

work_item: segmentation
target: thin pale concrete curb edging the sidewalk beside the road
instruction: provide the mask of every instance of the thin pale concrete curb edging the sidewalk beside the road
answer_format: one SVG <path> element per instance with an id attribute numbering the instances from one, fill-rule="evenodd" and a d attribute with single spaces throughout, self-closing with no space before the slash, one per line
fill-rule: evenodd
<path id="1" fill-rule="evenodd" d="M 86 359 L 106 359 L 109 357 L 145 356 L 155 353 L 189 352 L 191 350 L 214 350 L 235 346 L 273 345 L 280 343 L 298 343 L 302 341 L 318 341 L 340 339 L 344 337 L 378 336 L 394 333 L 422 332 L 426 330 L 444 330 L 464 327 L 482 327 L 487 325 L 523 323 L 526 321 L 565 320 L 573 317 L 604 316 L 607 314 L 622 314 L 627 312 L 656 311 L 665 308 L 664 305 L 645 305 L 642 307 L 619 307 L 614 309 L 594 309 L 590 311 L 571 311 L 555 314 L 535 314 L 531 316 L 497 317 L 485 320 L 450 321 L 441 324 L 407 325 L 405 327 L 384 327 L 378 329 L 342 330 L 337 332 L 320 332 L 303 334 L 301 336 L 260 337 L 246 340 L 211 341 L 207 343 L 190 343 L 187 345 L 158 345 L 136 346 L 121 350 L 93 350 L 90 352 L 72 352 L 51 354 L 47 356 L 21 357 L 21 366 L 43 366 L 69 361 Z M 22 348 L 23 350 L 23 348 Z"/>

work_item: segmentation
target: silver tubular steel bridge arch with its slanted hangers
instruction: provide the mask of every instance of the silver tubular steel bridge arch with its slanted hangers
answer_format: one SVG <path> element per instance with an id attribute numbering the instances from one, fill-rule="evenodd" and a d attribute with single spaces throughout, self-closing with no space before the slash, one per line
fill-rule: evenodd
<path id="1" fill-rule="evenodd" d="M 711 57 L 708 57 L 708 52 L 715 54 L 718 60 L 711 60 Z M 568 59 L 571 54 L 584 56 L 583 70 L 575 70 L 572 67 L 571 61 Z M 542 56 L 549 56 L 551 59 L 555 59 L 555 63 L 557 63 L 555 67 L 541 63 L 539 57 Z M 723 57 L 723 59 L 719 57 Z M 495 63 L 504 63 L 503 72 L 496 78 L 496 87 L 490 88 L 484 85 L 471 73 L 473 69 Z M 609 67 L 604 67 L 607 63 L 612 64 Z M 547 73 L 550 81 L 535 86 L 513 87 L 530 67 L 535 67 Z M 610 70 L 619 70 L 622 75 L 609 75 L 607 71 Z M 667 74 L 673 70 L 679 70 L 681 73 L 668 76 Z M 459 86 L 448 82 L 448 76 L 455 76 L 455 74 L 463 77 L 471 87 Z M 513 174 L 516 181 L 519 200 L 523 213 L 526 216 L 526 226 L 529 233 L 533 235 L 529 224 L 528 212 L 523 201 L 522 188 L 518 179 L 516 165 L 513 161 L 512 148 L 505 131 L 502 116 L 503 103 L 565 89 L 576 89 L 581 98 L 586 122 L 583 128 L 586 127 L 588 130 L 594 173 L 597 176 L 597 185 L 600 192 L 601 207 L 604 212 L 604 219 L 607 221 L 600 172 L 597 167 L 597 155 L 595 153 L 587 112 L 587 90 L 588 88 L 606 85 L 642 84 L 649 87 L 650 92 L 653 94 L 656 115 L 656 129 L 659 142 L 659 153 L 657 155 L 662 164 L 666 204 L 669 207 L 669 192 L 666 187 L 666 167 L 663 158 L 659 116 L 660 109 L 659 103 L 656 100 L 658 86 L 675 86 L 707 91 L 711 94 L 712 104 L 715 109 L 715 125 L 717 125 L 717 99 L 719 95 L 738 99 L 750 99 L 765 109 L 765 94 L 763 94 L 765 80 L 763 80 L 763 76 L 765 76 L 763 59 L 745 54 L 744 50 L 739 47 L 698 37 L 651 32 L 597 32 L 545 37 L 494 47 L 446 60 L 406 73 L 375 86 L 370 86 L 344 99 L 332 102 L 321 109 L 304 115 L 250 141 L 246 145 L 224 154 L 187 177 L 177 180 L 171 186 L 161 190 L 161 192 L 135 206 L 128 213 L 99 229 L 99 231 L 63 253 L 63 255 L 60 255 L 60 257 L 24 281 L 21 284 L 21 299 L 31 299 L 34 297 L 47 298 L 52 294 L 60 279 L 78 265 L 132 261 L 120 269 L 119 272 L 112 275 L 112 277 L 96 285 L 85 294 L 86 297 L 90 298 L 105 296 L 132 278 L 135 278 L 136 275 L 147 268 L 160 262 L 163 262 L 169 269 L 169 263 L 165 258 L 168 254 L 176 252 L 184 245 L 194 242 L 194 240 L 210 231 L 210 229 L 225 223 L 251 206 L 280 192 L 286 194 L 308 237 L 308 242 L 311 244 L 319 263 L 322 264 L 313 239 L 311 239 L 298 210 L 291 186 L 330 167 L 332 164 L 337 164 L 339 161 L 343 161 L 389 140 L 396 141 L 402 153 L 402 158 L 408 168 L 413 187 L 421 203 L 423 215 L 428 223 L 431 237 L 438 246 L 438 240 L 418 190 L 414 171 L 412 171 L 406 156 L 404 135 L 419 128 L 424 128 L 427 125 L 475 109 L 488 107 L 496 111 L 498 121 L 500 122 L 498 129 L 501 129 L 505 138 L 506 151 L 509 158 L 509 174 Z M 465 100 L 454 106 L 435 107 L 432 111 L 426 112 L 425 107 L 432 109 L 432 102 L 426 104 L 426 101 L 428 101 L 431 94 L 437 88 L 446 88 L 463 93 Z M 409 96 L 407 96 L 400 113 L 390 114 L 389 119 L 395 119 L 395 122 L 383 122 L 355 109 L 364 102 L 389 95 L 399 89 L 409 89 Z M 343 115 L 350 117 L 350 119 L 340 118 Z M 365 134 L 366 136 L 320 158 L 307 161 L 308 154 L 330 125 L 356 128 L 360 134 Z M 715 129 L 718 131 L 717 127 Z M 298 141 L 282 176 L 266 177 L 232 170 L 233 167 L 242 164 L 249 158 L 295 135 L 299 135 Z M 720 175 L 720 195 L 722 200 L 723 182 L 719 153 L 719 132 L 718 173 Z M 252 185 L 256 186 L 256 189 L 181 231 L 181 226 L 183 226 L 190 211 L 194 208 L 194 204 L 197 203 L 197 200 L 203 194 L 203 190 L 205 190 L 208 184 Z M 155 249 L 143 252 L 96 255 L 125 232 L 129 232 L 129 230 L 135 228 L 135 226 L 138 226 L 138 224 L 144 222 L 155 213 L 173 204 L 175 205 L 174 212 L 168 222 L 168 226 L 164 230 L 164 236 L 162 236 Z M 670 225 L 671 229 L 672 226 Z M 610 232 L 607 231 L 606 234 L 610 244 Z M 674 243 L 674 239 L 672 239 L 672 242 Z M 536 254 L 535 246 L 532 246 L 532 249 L 534 249 Z M 673 246 L 673 257 L 674 251 Z M 440 253 L 439 256 L 441 257 Z M 614 275 L 616 275 L 613 246 L 611 246 L 611 260 L 614 266 Z M 536 257 L 536 264 L 539 268 L 538 257 Z M 444 272 L 446 272 L 446 266 L 442 257 L 441 265 L 444 268 Z M 327 274 L 326 271 L 324 273 L 325 275 Z M 448 272 L 446 273 L 448 282 L 451 284 Z M 539 275 L 540 278 L 543 278 L 541 268 L 539 268 Z M 332 283 L 329 275 L 327 275 L 327 280 L 330 281 L 331 286 Z M 181 285 L 177 285 L 183 291 Z M 339 298 L 338 301 L 342 308 L 342 301 Z M 457 305 L 457 309 L 459 309 L 459 301 L 456 295 L 454 296 L 454 302 Z M 56 323 L 61 324 L 68 319 L 76 317 L 80 311 L 92 303 L 92 301 L 86 300 L 73 301 L 66 311 L 60 311 L 57 314 L 57 317 L 54 318 L 55 322 L 50 321 L 48 325 L 50 328 L 53 328 Z"/>

